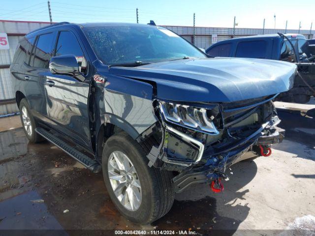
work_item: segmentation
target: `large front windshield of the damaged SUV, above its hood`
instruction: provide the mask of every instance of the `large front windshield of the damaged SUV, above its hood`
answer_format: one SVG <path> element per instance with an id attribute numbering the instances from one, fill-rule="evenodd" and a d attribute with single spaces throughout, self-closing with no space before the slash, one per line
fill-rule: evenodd
<path id="1" fill-rule="evenodd" d="M 91 27 L 83 31 L 98 59 L 108 65 L 206 58 L 185 39 L 161 27 Z"/>

